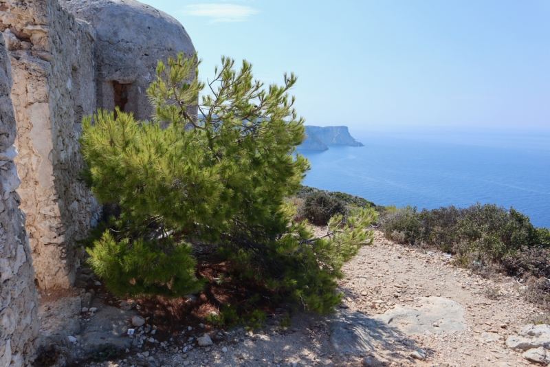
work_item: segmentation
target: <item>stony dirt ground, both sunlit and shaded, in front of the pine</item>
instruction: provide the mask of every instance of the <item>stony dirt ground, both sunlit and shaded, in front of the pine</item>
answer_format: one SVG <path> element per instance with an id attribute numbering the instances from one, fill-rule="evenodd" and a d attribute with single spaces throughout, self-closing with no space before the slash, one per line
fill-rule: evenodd
<path id="1" fill-rule="evenodd" d="M 153 337 L 153 342 L 146 340 L 140 350 L 124 353 L 117 363 L 87 366 L 529 365 L 505 346 L 505 339 L 542 311 L 523 300 L 520 285 L 511 278 L 493 281 L 472 276 L 439 252 L 397 245 L 381 232 L 375 233 L 375 243 L 362 248 L 344 272 L 342 311 L 375 316 L 395 307 L 415 309 L 426 300 L 423 297 L 448 298 L 464 309 L 465 328 L 439 333 L 437 325 L 428 325 L 433 332 L 382 341 L 374 344 L 373 351 L 337 353 L 331 343 L 331 319 L 297 315 L 286 329 L 272 324 L 258 333 L 213 331 L 214 344 L 206 347 L 195 345 L 196 337 L 202 335 L 196 329 L 173 335 L 162 344 Z M 494 289 L 499 289 L 500 296 L 489 299 L 487 290 Z M 426 360 L 412 358 L 407 346 L 422 348 Z"/>

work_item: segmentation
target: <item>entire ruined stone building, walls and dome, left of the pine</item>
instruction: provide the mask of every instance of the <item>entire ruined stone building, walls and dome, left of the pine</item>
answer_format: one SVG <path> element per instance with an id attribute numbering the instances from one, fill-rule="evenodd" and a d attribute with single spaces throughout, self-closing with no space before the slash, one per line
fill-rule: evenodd
<path id="1" fill-rule="evenodd" d="M 84 255 L 77 241 L 98 215 L 78 180 L 83 116 L 118 106 L 149 118 L 157 59 L 195 49 L 175 19 L 134 0 L 0 0 L 0 31 L 0 318 L 16 325 L 0 330 L 0 366 L 8 357 L 20 366 L 38 331 L 34 283 L 73 287 Z"/>

